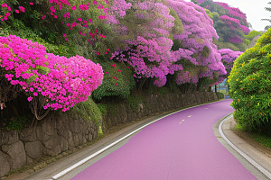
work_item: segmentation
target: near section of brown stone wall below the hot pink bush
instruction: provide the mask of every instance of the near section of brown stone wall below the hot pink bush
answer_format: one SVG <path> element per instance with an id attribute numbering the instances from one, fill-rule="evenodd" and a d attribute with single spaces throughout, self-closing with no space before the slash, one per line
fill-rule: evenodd
<path id="1" fill-rule="evenodd" d="M 62 152 L 98 137 L 98 127 L 77 112 L 55 112 L 42 125 L 0 134 L 0 177 L 42 157 Z"/>

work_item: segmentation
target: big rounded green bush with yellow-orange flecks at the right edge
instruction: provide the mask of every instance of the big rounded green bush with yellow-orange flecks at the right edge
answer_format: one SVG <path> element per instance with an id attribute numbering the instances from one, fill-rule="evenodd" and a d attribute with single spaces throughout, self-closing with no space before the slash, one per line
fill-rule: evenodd
<path id="1" fill-rule="evenodd" d="M 234 118 L 248 130 L 271 130 L 270 52 L 271 30 L 247 49 L 234 63 L 229 76 L 229 94 Z"/>

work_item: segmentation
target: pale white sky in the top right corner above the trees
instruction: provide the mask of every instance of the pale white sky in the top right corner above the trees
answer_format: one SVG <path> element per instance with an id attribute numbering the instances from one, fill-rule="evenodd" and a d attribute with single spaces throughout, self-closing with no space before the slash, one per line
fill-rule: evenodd
<path id="1" fill-rule="evenodd" d="M 190 2 L 190 0 L 184 0 Z M 251 23 L 252 28 L 256 31 L 264 31 L 266 25 L 271 25 L 261 19 L 271 19 L 271 12 L 265 10 L 265 7 L 271 7 L 271 0 L 213 0 L 223 2 L 232 7 L 238 7 L 244 14 L 247 14 L 247 21 Z"/>

